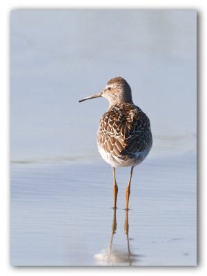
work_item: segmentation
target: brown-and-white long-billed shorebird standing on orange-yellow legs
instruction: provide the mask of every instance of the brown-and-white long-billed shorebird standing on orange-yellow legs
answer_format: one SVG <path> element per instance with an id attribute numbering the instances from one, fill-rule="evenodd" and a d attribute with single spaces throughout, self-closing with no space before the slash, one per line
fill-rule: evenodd
<path id="1" fill-rule="evenodd" d="M 97 146 L 103 160 L 112 166 L 113 208 L 117 209 L 118 186 L 115 168 L 130 166 L 130 178 L 126 187 L 126 208 L 129 210 L 130 184 L 135 166 L 146 159 L 152 148 L 150 119 L 132 101 L 132 90 L 123 77 L 114 77 L 105 88 L 88 99 L 108 99 L 109 108 L 99 121 Z"/>

